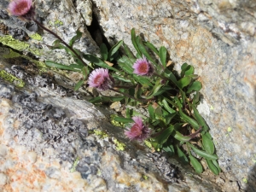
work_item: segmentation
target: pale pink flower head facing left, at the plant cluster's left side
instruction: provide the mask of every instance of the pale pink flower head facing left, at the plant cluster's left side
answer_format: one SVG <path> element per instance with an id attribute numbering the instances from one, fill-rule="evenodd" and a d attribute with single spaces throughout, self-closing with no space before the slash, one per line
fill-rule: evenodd
<path id="1" fill-rule="evenodd" d="M 98 90 L 108 90 L 113 87 L 113 78 L 108 74 L 108 69 L 97 68 L 90 73 L 88 84 Z"/>

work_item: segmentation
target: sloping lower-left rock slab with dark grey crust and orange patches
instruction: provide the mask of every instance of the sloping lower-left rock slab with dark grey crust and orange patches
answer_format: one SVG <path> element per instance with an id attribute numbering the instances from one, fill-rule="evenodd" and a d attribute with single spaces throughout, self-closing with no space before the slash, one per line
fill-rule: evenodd
<path id="1" fill-rule="evenodd" d="M 0 67 L 12 71 L 5 61 Z M 47 79 L 27 73 L 22 89 L 0 79 L 0 191 L 222 191 L 177 160 L 129 142 L 107 110 Z"/>

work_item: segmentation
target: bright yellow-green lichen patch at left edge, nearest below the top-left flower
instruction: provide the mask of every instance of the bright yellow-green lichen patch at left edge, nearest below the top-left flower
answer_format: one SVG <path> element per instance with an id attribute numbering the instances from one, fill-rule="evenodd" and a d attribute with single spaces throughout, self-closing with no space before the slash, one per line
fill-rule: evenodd
<path id="1" fill-rule="evenodd" d="M 29 47 L 29 44 L 21 42 L 15 38 L 12 38 L 10 35 L 0 36 L 0 43 L 9 46 L 15 50 L 25 50 Z"/>

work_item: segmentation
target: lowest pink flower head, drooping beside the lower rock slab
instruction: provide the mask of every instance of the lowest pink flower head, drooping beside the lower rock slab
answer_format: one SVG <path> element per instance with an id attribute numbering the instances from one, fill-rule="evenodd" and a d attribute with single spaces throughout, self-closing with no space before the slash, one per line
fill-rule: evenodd
<path id="1" fill-rule="evenodd" d="M 150 131 L 147 126 L 143 125 L 143 119 L 140 117 L 133 117 L 134 124 L 131 128 L 127 128 L 125 131 L 125 136 L 131 140 L 143 141 L 149 137 Z"/>

